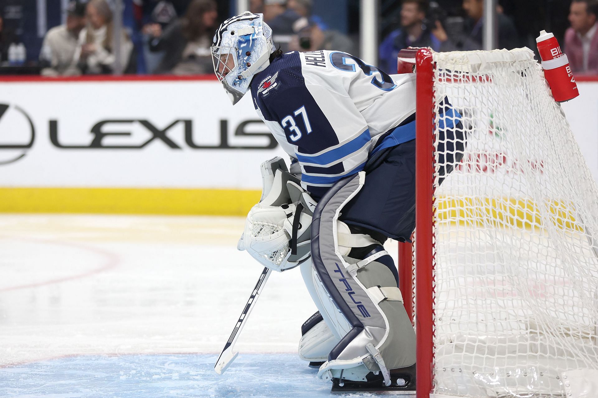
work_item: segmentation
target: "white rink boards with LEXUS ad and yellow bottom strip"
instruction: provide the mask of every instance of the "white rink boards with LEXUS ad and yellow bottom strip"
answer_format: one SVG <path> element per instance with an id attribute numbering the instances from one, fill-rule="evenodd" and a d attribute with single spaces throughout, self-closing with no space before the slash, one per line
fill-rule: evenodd
<path id="1" fill-rule="evenodd" d="M 285 156 L 212 78 L 0 81 L 0 212 L 244 215 Z M 598 176 L 598 83 L 563 105 Z M 504 166 L 502 157 L 474 158 Z"/>

